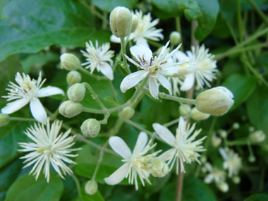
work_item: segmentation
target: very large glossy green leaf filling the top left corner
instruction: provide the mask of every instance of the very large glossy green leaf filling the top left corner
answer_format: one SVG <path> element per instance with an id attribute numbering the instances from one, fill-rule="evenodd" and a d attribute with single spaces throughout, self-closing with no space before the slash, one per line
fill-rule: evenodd
<path id="1" fill-rule="evenodd" d="M 88 40 L 109 41 L 109 31 L 96 31 L 90 11 L 76 1 L 14 0 L 3 8 L 0 19 L 0 61 L 6 56 L 36 53 L 59 44 L 85 47 Z"/>

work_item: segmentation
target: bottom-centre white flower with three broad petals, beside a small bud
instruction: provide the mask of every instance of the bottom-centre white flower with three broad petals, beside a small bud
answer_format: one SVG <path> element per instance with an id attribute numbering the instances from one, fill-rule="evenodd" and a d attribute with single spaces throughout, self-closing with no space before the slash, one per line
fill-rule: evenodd
<path id="1" fill-rule="evenodd" d="M 148 176 L 151 173 L 152 159 L 158 154 L 147 154 L 149 150 L 155 147 L 156 144 L 150 146 L 150 142 L 147 144 L 148 137 L 146 133 L 141 132 L 136 142 L 133 153 L 131 153 L 126 142 L 117 136 L 109 138 L 109 145 L 118 154 L 123 157 L 122 162 L 125 162 L 118 170 L 111 174 L 108 178 L 104 178 L 104 181 L 109 185 L 115 185 L 120 183 L 123 178 L 128 177 L 128 183 L 135 183 L 135 189 L 138 190 L 137 176 L 139 176 L 142 185 L 145 185 L 143 179 L 150 183 Z M 147 144 L 147 145 L 146 145 Z M 151 184 L 151 183 L 150 183 Z"/>

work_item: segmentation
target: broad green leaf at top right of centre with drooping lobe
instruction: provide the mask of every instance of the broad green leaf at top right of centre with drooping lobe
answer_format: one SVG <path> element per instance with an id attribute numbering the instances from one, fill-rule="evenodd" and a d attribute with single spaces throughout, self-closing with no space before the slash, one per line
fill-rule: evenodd
<path id="1" fill-rule="evenodd" d="M 169 13 L 168 17 L 172 14 L 173 17 L 178 16 L 183 11 L 187 20 L 197 20 L 195 38 L 199 41 L 205 39 L 212 32 L 219 13 L 217 0 L 153 0 L 152 3 L 165 13 Z"/>

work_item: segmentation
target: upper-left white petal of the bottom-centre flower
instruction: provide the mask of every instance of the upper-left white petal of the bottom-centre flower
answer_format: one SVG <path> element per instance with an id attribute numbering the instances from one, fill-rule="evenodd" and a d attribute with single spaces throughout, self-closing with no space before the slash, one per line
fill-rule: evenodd
<path id="1" fill-rule="evenodd" d="M 109 138 L 109 145 L 116 153 L 120 154 L 121 157 L 123 157 L 124 159 L 130 159 L 130 157 L 132 156 L 128 145 L 126 145 L 126 142 L 122 138 L 119 138 L 117 136 Z"/>

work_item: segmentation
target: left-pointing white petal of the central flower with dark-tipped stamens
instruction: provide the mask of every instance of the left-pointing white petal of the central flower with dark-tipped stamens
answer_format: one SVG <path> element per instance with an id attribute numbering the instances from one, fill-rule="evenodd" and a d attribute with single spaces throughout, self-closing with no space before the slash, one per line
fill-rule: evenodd
<path id="1" fill-rule="evenodd" d="M 120 85 L 121 91 L 124 93 L 126 90 L 129 90 L 130 88 L 140 83 L 140 81 L 145 78 L 142 77 L 143 74 L 145 74 L 145 71 L 137 71 L 126 76 L 126 78 L 123 78 L 123 81 Z"/>

